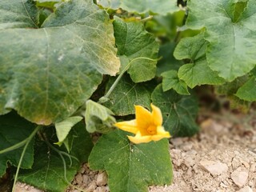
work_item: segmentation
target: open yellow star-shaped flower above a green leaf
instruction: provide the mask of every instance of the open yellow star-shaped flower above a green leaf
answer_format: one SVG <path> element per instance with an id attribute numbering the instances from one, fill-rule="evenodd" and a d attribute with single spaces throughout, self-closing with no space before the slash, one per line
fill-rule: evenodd
<path id="1" fill-rule="evenodd" d="M 152 113 L 142 106 L 135 106 L 136 118 L 134 120 L 117 122 L 114 126 L 135 134 L 134 137 L 128 136 L 130 141 L 135 144 L 170 138 L 169 132 L 162 126 L 161 110 L 153 104 L 151 104 L 151 108 Z"/>

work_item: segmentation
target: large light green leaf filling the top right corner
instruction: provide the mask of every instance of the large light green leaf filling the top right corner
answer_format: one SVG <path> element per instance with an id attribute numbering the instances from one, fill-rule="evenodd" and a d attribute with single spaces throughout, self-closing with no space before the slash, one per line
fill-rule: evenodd
<path id="1" fill-rule="evenodd" d="M 186 25 L 206 27 L 207 62 L 228 81 L 248 73 L 256 65 L 256 4 L 254 0 L 193 0 Z"/>

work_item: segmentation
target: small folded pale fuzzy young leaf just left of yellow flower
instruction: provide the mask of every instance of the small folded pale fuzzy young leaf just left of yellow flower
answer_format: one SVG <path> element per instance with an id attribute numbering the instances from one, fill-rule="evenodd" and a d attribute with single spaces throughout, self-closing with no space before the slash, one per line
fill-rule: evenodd
<path id="1" fill-rule="evenodd" d="M 89 133 L 98 131 L 100 133 L 107 133 L 113 130 L 113 124 L 116 122 L 115 118 L 112 116 L 114 113 L 102 106 L 97 102 L 88 100 L 86 102 L 86 130 Z"/>

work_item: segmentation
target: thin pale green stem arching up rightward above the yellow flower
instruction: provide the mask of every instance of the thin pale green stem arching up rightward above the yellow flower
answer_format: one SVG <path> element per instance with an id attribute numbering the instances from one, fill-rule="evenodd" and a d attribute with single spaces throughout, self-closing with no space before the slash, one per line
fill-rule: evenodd
<path id="1" fill-rule="evenodd" d="M 158 61 L 158 59 L 153 59 L 153 58 L 145 58 L 145 57 L 139 57 L 139 58 L 134 58 L 132 59 L 126 66 L 125 68 L 122 70 L 122 72 L 118 75 L 118 78 L 114 81 L 114 83 L 112 84 L 112 86 L 110 86 L 110 89 L 107 91 L 107 93 L 99 99 L 98 103 L 103 103 L 103 102 L 107 102 L 109 100 L 109 96 L 112 93 L 112 91 L 114 90 L 114 88 L 118 85 L 118 82 L 120 81 L 120 79 L 122 78 L 122 75 L 126 72 L 126 70 L 129 70 L 130 65 L 132 62 L 138 60 L 138 59 L 146 59 L 146 60 L 150 60 L 150 61 Z"/>

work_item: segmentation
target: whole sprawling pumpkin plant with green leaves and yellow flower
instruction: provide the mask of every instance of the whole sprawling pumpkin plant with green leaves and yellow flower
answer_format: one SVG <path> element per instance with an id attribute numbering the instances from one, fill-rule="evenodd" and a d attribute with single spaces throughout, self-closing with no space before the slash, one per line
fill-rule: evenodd
<path id="1" fill-rule="evenodd" d="M 88 162 L 111 192 L 171 184 L 194 87 L 256 100 L 255 21 L 254 0 L 0 1 L 0 178 L 62 192 Z"/>

